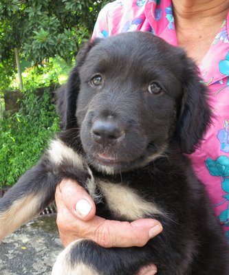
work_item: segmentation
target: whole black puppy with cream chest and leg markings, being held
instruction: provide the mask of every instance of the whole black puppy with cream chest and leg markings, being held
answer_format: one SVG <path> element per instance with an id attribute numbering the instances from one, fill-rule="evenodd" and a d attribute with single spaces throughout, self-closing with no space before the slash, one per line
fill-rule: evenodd
<path id="1" fill-rule="evenodd" d="M 98 215 L 152 217 L 164 230 L 143 248 L 75 241 L 58 256 L 54 275 L 132 275 L 149 263 L 158 275 L 228 275 L 226 239 L 183 155 L 210 122 L 206 96 L 184 51 L 151 33 L 89 43 L 59 94 L 64 131 L 0 200 L 0 239 L 71 178 L 94 197 Z"/>

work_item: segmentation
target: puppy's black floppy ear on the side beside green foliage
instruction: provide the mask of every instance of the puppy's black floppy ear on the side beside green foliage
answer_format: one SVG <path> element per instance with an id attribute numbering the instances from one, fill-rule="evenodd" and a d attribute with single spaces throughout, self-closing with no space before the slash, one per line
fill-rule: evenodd
<path id="1" fill-rule="evenodd" d="M 100 41 L 95 39 L 86 43 L 76 56 L 76 66 L 69 75 L 67 84 L 63 85 L 57 91 L 57 112 L 61 116 L 61 128 L 63 130 L 71 129 L 77 125 L 76 121 L 76 100 L 80 89 L 79 69 L 85 62 L 85 58 L 91 47 L 94 47 Z"/>

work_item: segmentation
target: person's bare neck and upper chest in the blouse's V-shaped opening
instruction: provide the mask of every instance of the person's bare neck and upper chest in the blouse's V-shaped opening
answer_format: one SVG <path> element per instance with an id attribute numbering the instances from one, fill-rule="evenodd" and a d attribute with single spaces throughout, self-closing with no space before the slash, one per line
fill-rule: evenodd
<path id="1" fill-rule="evenodd" d="M 197 64 L 208 51 L 229 10 L 226 0 L 173 0 L 178 45 Z"/>

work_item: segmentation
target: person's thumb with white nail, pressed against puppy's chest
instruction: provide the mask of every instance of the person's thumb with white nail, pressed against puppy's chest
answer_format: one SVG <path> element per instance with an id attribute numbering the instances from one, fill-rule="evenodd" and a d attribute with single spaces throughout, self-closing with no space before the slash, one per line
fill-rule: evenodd
<path id="1" fill-rule="evenodd" d="M 74 217 L 83 221 L 88 221 L 96 213 L 96 205 L 87 193 L 76 181 L 63 179 L 57 187 L 58 193 L 56 200 L 62 197 L 62 201 Z"/>

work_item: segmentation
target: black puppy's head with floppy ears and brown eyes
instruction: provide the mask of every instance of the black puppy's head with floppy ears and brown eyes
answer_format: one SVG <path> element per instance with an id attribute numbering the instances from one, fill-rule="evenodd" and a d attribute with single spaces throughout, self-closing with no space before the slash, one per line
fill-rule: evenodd
<path id="1" fill-rule="evenodd" d="M 193 153 L 210 118 L 195 64 L 146 32 L 86 45 L 59 102 L 64 128 L 80 127 L 89 162 L 106 173 L 144 166 L 174 141 Z"/>

